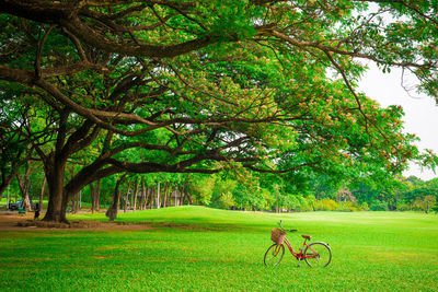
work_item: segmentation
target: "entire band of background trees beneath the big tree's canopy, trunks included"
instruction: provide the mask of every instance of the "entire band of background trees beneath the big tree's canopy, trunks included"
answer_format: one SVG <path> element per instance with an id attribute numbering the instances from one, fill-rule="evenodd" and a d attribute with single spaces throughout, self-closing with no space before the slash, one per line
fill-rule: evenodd
<path id="1" fill-rule="evenodd" d="M 70 170 L 71 175 L 74 167 Z M 344 177 L 335 174 L 260 174 L 244 168 L 205 174 L 125 174 L 103 178 L 76 194 L 68 211 L 139 211 L 183 205 L 247 211 L 420 211 L 438 212 L 438 178 Z M 47 208 L 48 191 L 38 162 L 28 162 L 3 191 L 1 202 L 22 200 Z M 112 210 L 113 208 L 113 210 Z M 112 210 L 112 211 L 107 211 Z"/>

